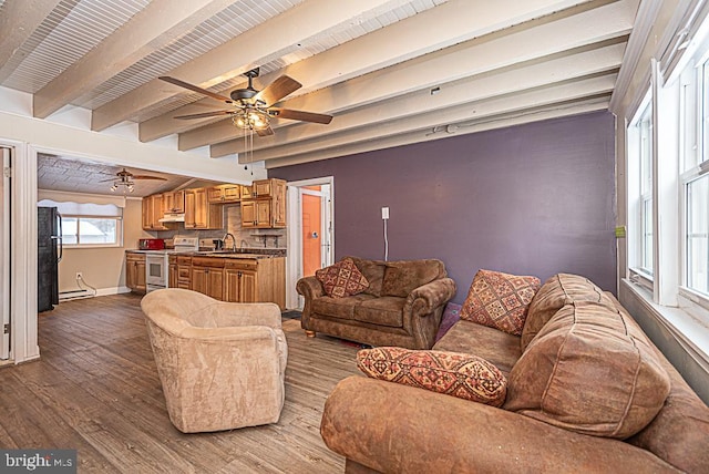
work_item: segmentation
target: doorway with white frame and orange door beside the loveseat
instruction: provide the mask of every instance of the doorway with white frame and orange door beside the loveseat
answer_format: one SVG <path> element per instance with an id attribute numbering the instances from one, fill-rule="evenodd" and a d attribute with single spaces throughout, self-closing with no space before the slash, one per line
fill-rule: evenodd
<path id="1" fill-rule="evenodd" d="M 332 176 L 288 183 L 286 307 L 302 308 L 296 284 L 335 260 Z"/>

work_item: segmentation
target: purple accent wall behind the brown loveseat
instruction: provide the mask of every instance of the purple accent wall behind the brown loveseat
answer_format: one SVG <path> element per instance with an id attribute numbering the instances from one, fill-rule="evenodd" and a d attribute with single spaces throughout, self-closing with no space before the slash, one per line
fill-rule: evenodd
<path id="1" fill-rule="evenodd" d="M 269 171 L 335 176 L 336 258 L 439 258 L 462 302 L 480 268 L 616 291 L 615 118 L 596 112 Z"/>

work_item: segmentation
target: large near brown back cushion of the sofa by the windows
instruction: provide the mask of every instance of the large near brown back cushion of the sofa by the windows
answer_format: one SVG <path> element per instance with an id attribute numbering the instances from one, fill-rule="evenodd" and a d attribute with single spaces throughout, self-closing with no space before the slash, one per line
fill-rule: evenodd
<path id="1" fill-rule="evenodd" d="M 623 440 L 653 421 L 669 389 L 636 324 L 605 305 L 577 301 L 552 317 L 512 368 L 505 409 Z"/>

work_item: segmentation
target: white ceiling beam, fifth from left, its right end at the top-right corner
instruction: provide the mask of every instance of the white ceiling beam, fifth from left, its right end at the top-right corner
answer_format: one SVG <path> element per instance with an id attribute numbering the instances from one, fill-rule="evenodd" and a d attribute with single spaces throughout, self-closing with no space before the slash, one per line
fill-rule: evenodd
<path id="1" fill-rule="evenodd" d="M 626 2 L 615 2 L 506 35 L 471 40 L 343 84 L 285 101 L 284 106 L 321 113 L 345 111 L 571 49 L 625 38 L 633 25 L 633 13 L 626 7 Z M 337 113 L 335 115 L 333 124 L 338 121 Z M 222 136 L 209 132 L 217 126 Z M 179 134 L 179 150 L 192 150 L 191 147 L 233 138 L 233 128 L 208 125 Z"/>

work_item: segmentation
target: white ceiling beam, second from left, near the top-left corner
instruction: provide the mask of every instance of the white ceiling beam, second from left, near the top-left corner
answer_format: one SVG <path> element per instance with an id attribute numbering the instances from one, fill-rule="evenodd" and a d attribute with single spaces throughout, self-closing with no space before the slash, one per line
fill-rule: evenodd
<path id="1" fill-rule="evenodd" d="M 40 89 L 33 115 L 45 118 L 239 0 L 153 0 Z"/>

